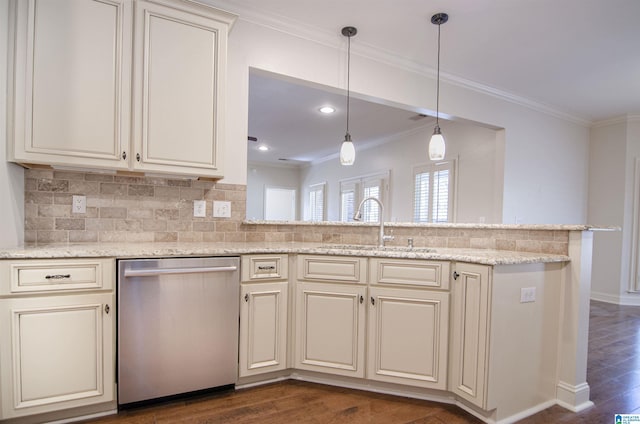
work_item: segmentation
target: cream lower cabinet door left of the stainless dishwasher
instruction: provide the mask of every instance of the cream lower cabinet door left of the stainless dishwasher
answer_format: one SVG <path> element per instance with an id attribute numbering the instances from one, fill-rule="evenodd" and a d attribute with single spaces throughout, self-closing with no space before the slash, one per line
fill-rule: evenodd
<path id="1" fill-rule="evenodd" d="M 2 419 L 115 399 L 113 294 L 0 300 Z"/>

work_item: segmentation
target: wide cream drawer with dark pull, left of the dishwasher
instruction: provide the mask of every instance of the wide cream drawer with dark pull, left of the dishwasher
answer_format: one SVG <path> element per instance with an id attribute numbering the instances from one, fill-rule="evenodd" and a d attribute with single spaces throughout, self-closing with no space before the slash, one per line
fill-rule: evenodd
<path id="1" fill-rule="evenodd" d="M 0 294 L 113 288 L 113 259 L 20 260 L 0 263 Z"/>

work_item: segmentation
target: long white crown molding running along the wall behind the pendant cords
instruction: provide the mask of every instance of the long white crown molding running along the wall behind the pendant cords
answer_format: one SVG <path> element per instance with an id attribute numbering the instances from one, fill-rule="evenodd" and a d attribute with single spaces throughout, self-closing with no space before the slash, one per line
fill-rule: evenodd
<path id="1" fill-rule="evenodd" d="M 249 8 L 244 5 L 239 5 L 237 3 L 232 3 L 225 0 L 201 1 L 206 1 L 209 4 L 224 8 L 238 14 L 238 20 L 269 28 L 296 38 L 301 38 L 312 43 L 323 45 L 325 47 L 340 49 L 343 44 L 342 39 L 344 37 L 337 32 L 333 34 L 319 27 L 302 24 L 299 21 L 287 18 L 268 10 Z M 436 77 L 436 70 L 431 67 L 399 56 L 392 51 L 385 50 L 380 47 L 375 47 L 366 43 L 358 42 L 355 45 L 352 45 L 351 53 L 352 55 L 371 59 L 373 61 L 380 62 L 394 68 L 399 68 L 404 71 L 431 78 Z M 489 85 L 471 81 L 460 76 L 448 74 L 446 72 L 442 72 L 442 70 L 440 71 L 440 81 L 461 88 L 469 89 L 481 94 L 485 94 L 494 98 L 498 98 L 509 103 L 517 104 L 519 106 L 523 106 L 528 109 L 535 110 L 537 112 L 544 113 L 546 115 L 550 115 L 555 118 L 569 121 L 584 127 L 591 127 L 594 124 L 590 119 L 573 115 L 550 105 L 514 93 L 509 93 L 496 87 L 491 87 Z"/>

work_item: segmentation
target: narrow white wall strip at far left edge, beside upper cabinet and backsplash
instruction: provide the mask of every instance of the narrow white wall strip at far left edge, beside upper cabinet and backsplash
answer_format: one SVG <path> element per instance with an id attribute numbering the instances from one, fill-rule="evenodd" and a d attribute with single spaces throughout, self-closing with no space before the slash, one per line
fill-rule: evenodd
<path id="1" fill-rule="evenodd" d="M 6 161 L 7 137 L 7 43 L 8 2 L 0 2 L 0 247 L 19 246 L 24 241 L 24 171 Z"/>

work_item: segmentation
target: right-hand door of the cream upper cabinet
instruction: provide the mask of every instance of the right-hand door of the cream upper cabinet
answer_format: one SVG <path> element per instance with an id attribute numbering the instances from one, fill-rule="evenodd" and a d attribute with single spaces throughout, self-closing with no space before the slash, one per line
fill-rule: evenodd
<path id="1" fill-rule="evenodd" d="M 133 167 L 221 177 L 227 23 L 135 7 Z"/>

